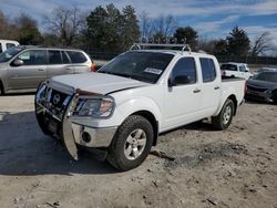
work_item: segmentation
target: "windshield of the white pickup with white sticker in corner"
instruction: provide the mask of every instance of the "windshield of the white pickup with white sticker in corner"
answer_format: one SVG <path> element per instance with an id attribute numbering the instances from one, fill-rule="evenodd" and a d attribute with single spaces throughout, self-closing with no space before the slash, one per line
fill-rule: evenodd
<path id="1" fill-rule="evenodd" d="M 156 83 L 173 56 L 166 53 L 126 52 L 98 72 Z"/>

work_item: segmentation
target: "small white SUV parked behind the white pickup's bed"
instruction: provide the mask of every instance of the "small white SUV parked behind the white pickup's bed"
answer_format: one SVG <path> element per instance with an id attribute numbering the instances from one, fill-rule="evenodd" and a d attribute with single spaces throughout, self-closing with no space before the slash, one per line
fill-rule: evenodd
<path id="1" fill-rule="evenodd" d="M 222 75 L 248 80 L 253 74 L 246 63 L 228 62 L 220 65 Z"/>

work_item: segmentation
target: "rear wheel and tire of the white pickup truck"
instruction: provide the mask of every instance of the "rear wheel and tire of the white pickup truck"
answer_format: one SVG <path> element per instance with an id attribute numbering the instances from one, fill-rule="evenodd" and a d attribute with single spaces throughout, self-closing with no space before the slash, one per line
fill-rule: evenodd
<path id="1" fill-rule="evenodd" d="M 212 117 L 212 124 L 214 127 L 219 131 L 226 129 L 232 123 L 234 111 L 234 102 L 228 98 L 224 103 L 220 113 L 217 116 Z"/>

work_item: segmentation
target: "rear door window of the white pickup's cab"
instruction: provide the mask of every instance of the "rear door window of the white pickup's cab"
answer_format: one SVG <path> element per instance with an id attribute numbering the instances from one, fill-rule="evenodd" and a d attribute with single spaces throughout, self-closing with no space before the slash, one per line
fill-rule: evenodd
<path id="1" fill-rule="evenodd" d="M 214 60 L 201 58 L 201 69 L 203 82 L 213 82 L 216 79 Z"/>

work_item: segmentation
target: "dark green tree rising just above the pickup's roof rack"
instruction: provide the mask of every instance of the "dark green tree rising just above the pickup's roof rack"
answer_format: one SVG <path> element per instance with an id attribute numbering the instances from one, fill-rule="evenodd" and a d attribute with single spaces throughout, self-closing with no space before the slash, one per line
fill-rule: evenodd
<path id="1" fill-rule="evenodd" d="M 198 34 L 192 27 L 177 28 L 174 38 L 177 39 L 177 43 L 187 43 L 195 50 L 197 48 Z"/>

